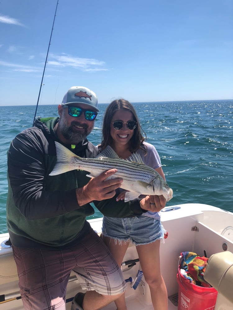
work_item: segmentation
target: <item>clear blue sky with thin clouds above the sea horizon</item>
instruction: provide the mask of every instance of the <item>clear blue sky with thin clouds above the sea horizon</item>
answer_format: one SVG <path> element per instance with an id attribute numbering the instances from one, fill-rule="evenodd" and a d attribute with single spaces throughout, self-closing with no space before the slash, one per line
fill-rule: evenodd
<path id="1" fill-rule="evenodd" d="M 0 1 L 0 105 L 36 104 L 57 0 Z M 59 0 L 40 104 L 233 99 L 232 0 Z"/>

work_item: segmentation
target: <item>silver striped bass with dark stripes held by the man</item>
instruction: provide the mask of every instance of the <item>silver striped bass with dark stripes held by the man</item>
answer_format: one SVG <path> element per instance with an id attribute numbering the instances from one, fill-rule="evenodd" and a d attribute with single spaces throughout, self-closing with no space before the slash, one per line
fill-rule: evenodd
<path id="1" fill-rule="evenodd" d="M 111 146 L 107 146 L 95 158 L 82 158 L 62 144 L 58 142 L 55 144 L 57 163 L 49 175 L 80 169 L 90 172 L 88 177 L 95 178 L 106 170 L 116 168 L 117 172 L 109 179 L 123 179 L 121 188 L 128 191 L 125 201 L 133 200 L 140 195 L 163 195 L 167 201 L 172 198 L 173 190 L 156 170 L 144 164 L 137 153 L 129 159 L 121 159 Z"/>

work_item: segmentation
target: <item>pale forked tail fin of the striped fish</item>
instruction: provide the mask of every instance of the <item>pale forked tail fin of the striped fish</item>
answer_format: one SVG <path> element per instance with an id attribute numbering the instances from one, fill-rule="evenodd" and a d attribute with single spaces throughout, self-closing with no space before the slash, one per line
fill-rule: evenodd
<path id="1" fill-rule="evenodd" d="M 77 155 L 72 153 L 68 148 L 63 146 L 62 144 L 55 141 L 56 145 L 56 154 L 57 154 L 57 162 L 53 168 L 53 171 L 50 172 L 49 175 L 58 175 L 70 170 L 74 170 L 70 165 L 71 159 L 73 157 L 79 158 Z"/>

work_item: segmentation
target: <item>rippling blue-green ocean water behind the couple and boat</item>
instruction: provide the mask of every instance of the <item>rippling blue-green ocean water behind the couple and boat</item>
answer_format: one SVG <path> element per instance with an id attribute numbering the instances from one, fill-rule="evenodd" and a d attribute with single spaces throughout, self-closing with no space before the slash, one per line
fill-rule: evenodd
<path id="1" fill-rule="evenodd" d="M 157 149 L 174 196 L 167 203 L 204 203 L 233 211 L 233 100 L 134 103 L 147 142 Z M 93 144 L 101 141 L 100 113 Z M 7 232 L 7 149 L 32 126 L 35 106 L 0 106 L 0 233 Z M 57 105 L 41 105 L 37 116 L 57 116 Z M 96 210 L 89 218 L 101 217 Z"/>

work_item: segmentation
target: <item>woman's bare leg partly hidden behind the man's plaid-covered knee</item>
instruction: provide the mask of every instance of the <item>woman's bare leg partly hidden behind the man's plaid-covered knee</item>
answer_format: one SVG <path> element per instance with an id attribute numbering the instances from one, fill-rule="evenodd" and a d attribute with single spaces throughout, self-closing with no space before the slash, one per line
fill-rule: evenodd
<path id="1" fill-rule="evenodd" d="M 115 241 L 109 237 L 105 237 L 102 235 L 103 242 L 109 248 L 112 256 L 115 258 L 118 265 L 121 267 L 122 260 L 126 254 L 126 250 L 129 246 L 129 241 L 124 242 L 122 244 L 115 244 Z M 126 301 L 125 301 L 125 294 L 121 295 L 118 299 L 115 300 L 115 304 L 117 306 L 117 310 L 127 310 Z"/>

